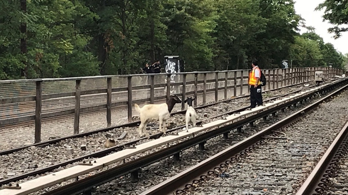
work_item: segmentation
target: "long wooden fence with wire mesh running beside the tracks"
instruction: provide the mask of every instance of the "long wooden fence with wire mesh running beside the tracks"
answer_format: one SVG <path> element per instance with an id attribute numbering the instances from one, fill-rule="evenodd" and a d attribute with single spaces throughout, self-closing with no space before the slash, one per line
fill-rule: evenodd
<path id="1" fill-rule="evenodd" d="M 326 67 L 266 69 L 262 70 L 267 78 L 264 90 L 313 80 L 316 70 L 323 70 L 325 77 L 344 73 L 343 70 Z M 41 141 L 41 119 L 74 113 L 74 134 L 79 133 L 81 112 L 106 108 L 107 126 L 111 126 L 111 110 L 120 108 L 127 110 L 127 118 L 131 122 L 134 103 L 163 102 L 170 94 L 179 95 L 182 100 L 193 95 L 196 97 L 194 106 L 197 106 L 198 95 L 206 104 L 207 93 L 215 93 L 215 102 L 222 90 L 224 99 L 230 97 L 228 94 L 249 93 L 249 71 L 2 80 L 0 127 L 34 120 L 35 143 L 38 143 Z M 182 101 L 181 110 L 184 109 Z"/>

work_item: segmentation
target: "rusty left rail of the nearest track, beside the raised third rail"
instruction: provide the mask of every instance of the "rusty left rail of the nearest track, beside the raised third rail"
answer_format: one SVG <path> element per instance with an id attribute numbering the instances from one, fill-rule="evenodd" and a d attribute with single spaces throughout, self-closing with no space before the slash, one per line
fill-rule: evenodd
<path id="1" fill-rule="evenodd" d="M 310 110 L 313 110 L 316 108 L 319 104 L 322 102 L 331 99 L 333 96 L 341 93 L 342 91 L 346 90 L 348 85 L 345 85 L 341 87 L 339 90 L 334 91 L 333 93 L 326 95 L 322 99 L 314 102 L 313 104 L 308 105 L 306 108 L 301 109 L 300 111 L 286 117 L 283 120 L 280 120 L 276 122 L 275 124 L 265 128 L 259 133 L 256 133 L 252 135 L 251 137 L 248 137 L 247 139 L 244 139 L 243 141 L 229 147 L 226 150 L 223 150 L 222 152 L 219 152 L 218 154 L 215 154 L 214 156 L 196 164 L 195 166 L 167 179 L 166 181 L 146 190 L 145 192 L 141 193 L 140 195 L 165 195 L 169 194 L 175 191 L 177 188 L 185 188 L 183 187 L 184 184 L 189 183 L 190 181 L 195 181 L 197 184 L 198 182 L 201 182 L 203 180 L 199 176 L 204 175 L 204 173 L 207 173 L 209 170 L 213 169 L 215 166 L 219 165 L 220 163 L 230 159 L 232 156 L 237 155 L 240 153 L 240 155 L 243 155 L 243 151 L 247 150 L 252 145 L 256 144 L 257 142 L 261 141 L 263 136 L 271 134 L 272 131 L 278 130 L 279 128 L 282 128 L 289 124 L 290 122 L 294 121 L 295 119 L 301 117 L 303 113 L 308 112 Z M 232 157 L 233 158 L 233 157 Z M 176 190 L 177 191 L 177 190 Z M 309 195 L 304 193 L 303 195 Z"/>

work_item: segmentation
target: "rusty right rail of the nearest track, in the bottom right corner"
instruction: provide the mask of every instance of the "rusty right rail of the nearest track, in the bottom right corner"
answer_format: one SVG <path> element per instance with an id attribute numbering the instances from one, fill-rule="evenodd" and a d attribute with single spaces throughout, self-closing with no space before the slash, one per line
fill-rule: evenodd
<path id="1" fill-rule="evenodd" d="M 314 167 L 313 171 L 311 171 L 296 195 L 319 195 L 323 194 L 326 187 L 329 187 L 328 183 L 333 170 L 338 166 L 339 159 L 347 150 L 347 135 L 348 121 Z"/>

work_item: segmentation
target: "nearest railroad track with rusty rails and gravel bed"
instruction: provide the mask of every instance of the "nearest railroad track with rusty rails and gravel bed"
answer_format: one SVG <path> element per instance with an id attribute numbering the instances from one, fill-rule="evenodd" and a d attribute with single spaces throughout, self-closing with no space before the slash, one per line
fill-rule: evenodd
<path id="1" fill-rule="evenodd" d="M 226 192 L 238 195 L 295 194 L 309 173 L 313 169 L 319 170 L 314 167 L 335 137 L 339 135 L 339 140 L 344 139 L 341 135 L 343 133 L 340 133 L 342 127 L 345 136 L 347 135 L 348 102 L 345 101 L 348 95 L 347 88 L 348 85 L 340 88 L 242 142 L 146 190 L 141 195 L 165 195 L 173 192 L 177 195 L 226 194 Z M 335 95 L 337 96 L 332 99 Z M 335 145 L 338 149 L 339 144 Z M 348 139 L 341 145 L 341 156 L 347 145 Z M 323 161 L 327 156 L 325 155 Z M 326 167 L 329 163 L 332 161 L 327 161 Z M 342 163 L 344 164 L 343 161 Z M 332 166 L 329 168 L 331 172 L 338 171 L 339 166 L 336 164 L 330 166 Z M 347 165 L 343 166 L 346 170 Z M 323 167 L 322 173 L 327 171 L 325 165 Z M 343 174 L 347 176 L 347 173 Z M 338 176 L 335 173 L 332 175 Z M 320 179 L 318 173 L 316 176 Z M 324 176 L 327 178 L 328 174 Z M 312 180 L 315 176 L 309 177 Z M 341 175 L 339 180 L 330 178 L 327 180 L 329 184 L 333 183 L 332 181 L 340 181 L 334 187 L 343 188 L 346 187 L 342 185 L 347 181 L 346 178 Z M 322 181 L 319 182 L 323 183 Z M 315 186 L 314 189 L 316 188 L 319 187 Z M 331 189 L 334 193 L 339 192 L 333 188 L 326 189 Z M 302 190 L 296 195 L 310 195 L 309 192 Z"/>

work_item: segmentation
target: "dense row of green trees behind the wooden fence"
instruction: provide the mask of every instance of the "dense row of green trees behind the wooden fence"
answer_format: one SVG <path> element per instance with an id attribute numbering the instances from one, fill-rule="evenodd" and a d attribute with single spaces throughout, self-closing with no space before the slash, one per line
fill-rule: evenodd
<path id="1" fill-rule="evenodd" d="M 155 60 L 164 68 L 165 55 L 179 55 L 185 71 L 250 68 L 255 58 L 261 68 L 285 59 L 344 67 L 347 59 L 312 27 L 298 33 L 293 0 L 27 0 L 26 12 L 20 1 L 0 5 L 0 79 L 132 74 Z"/>

